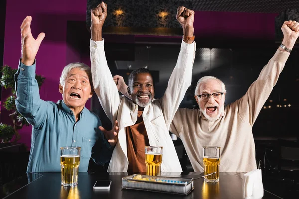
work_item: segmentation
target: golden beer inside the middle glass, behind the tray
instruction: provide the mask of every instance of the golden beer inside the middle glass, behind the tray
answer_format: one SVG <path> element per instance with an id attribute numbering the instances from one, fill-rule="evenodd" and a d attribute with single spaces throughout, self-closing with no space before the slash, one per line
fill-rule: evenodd
<path id="1" fill-rule="evenodd" d="M 161 153 L 147 153 L 145 156 L 147 175 L 160 176 L 163 155 Z"/>

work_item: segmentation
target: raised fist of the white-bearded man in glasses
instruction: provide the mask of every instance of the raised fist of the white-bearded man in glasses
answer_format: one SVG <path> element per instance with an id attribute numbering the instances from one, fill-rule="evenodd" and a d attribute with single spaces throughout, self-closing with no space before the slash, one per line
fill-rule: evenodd
<path id="1" fill-rule="evenodd" d="M 282 44 L 292 49 L 297 38 L 299 37 L 299 23 L 296 21 L 285 21 L 281 27 L 284 34 Z"/>

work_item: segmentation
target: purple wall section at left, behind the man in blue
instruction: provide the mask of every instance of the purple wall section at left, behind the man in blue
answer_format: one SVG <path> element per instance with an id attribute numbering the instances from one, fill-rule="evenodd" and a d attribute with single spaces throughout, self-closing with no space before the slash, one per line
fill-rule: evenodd
<path id="1" fill-rule="evenodd" d="M 46 34 L 36 56 L 36 73 L 46 79 L 40 89 L 43 100 L 58 101 L 61 94 L 58 90 L 59 77 L 63 67 L 72 62 L 81 62 L 80 57 L 66 43 L 66 24 L 68 20 L 85 21 L 85 0 L 7 0 L 4 64 L 17 68 L 21 56 L 20 25 L 27 16 L 32 16 L 31 31 L 36 38 L 40 32 Z M 67 57 L 68 55 L 68 57 Z M 86 63 L 89 64 L 89 63 Z M 7 91 L 2 92 L 2 101 L 6 99 Z M 86 105 L 89 108 L 89 102 Z M 9 123 L 8 113 L 2 107 L 1 120 Z M 20 130 L 20 142 L 30 148 L 32 127 Z"/>

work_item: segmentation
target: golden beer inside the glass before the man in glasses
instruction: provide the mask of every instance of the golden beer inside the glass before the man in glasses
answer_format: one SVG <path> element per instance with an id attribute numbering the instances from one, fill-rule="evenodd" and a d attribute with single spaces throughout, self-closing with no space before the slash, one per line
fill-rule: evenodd
<path id="1" fill-rule="evenodd" d="M 203 157 L 204 175 L 217 172 L 216 174 L 205 176 L 204 181 L 214 182 L 214 183 L 219 182 L 219 166 L 220 166 L 219 157 Z"/>

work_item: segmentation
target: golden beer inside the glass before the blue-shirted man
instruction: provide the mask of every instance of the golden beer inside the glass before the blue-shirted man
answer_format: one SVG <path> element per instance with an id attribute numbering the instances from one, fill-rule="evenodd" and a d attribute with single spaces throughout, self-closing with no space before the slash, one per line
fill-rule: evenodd
<path id="1" fill-rule="evenodd" d="M 79 155 L 60 156 L 61 185 L 74 186 L 78 184 L 78 172 L 80 165 Z"/>

